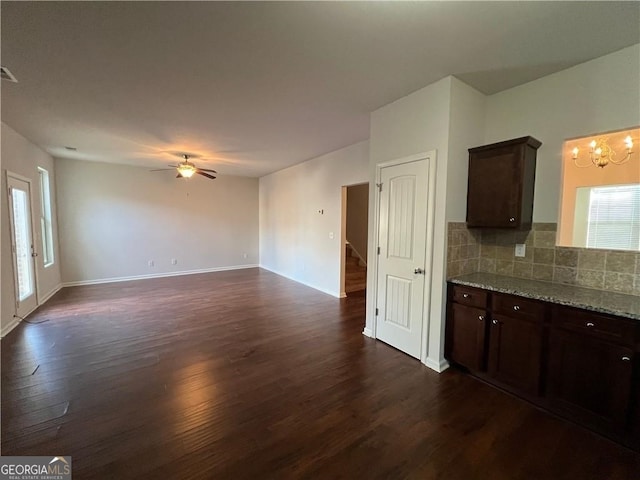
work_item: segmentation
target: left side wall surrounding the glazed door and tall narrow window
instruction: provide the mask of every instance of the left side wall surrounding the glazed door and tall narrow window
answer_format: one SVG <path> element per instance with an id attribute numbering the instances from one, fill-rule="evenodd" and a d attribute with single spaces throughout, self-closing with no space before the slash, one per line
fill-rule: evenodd
<path id="1" fill-rule="evenodd" d="M 40 185 L 37 167 L 49 172 L 51 182 L 51 209 L 54 241 L 54 264 L 44 267 L 44 256 L 36 257 L 37 298 L 38 303 L 44 303 L 61 284 L 60 253 L 58 250 L 58 225 L 56 221 L 56 188 L 53 159 L 39 147 L 29 142 L 11 127 L 2 123 L 2 237 L 1 237 L 1 266 L 2 266 L 2 319 L 0 327 L 2 336 L 13 328 L 17 322 L 13 318 L 15 313 L 15 285 L 13 280 L 13 259 L 11 256 L 11 229 L 9 227 L 9 206 L 7 196 L 7 170 L 31 180 L 32 215 L 34 218 L 34 240 L 36 251 L 42 251 L 42 229 L 40 227 Z"/>

